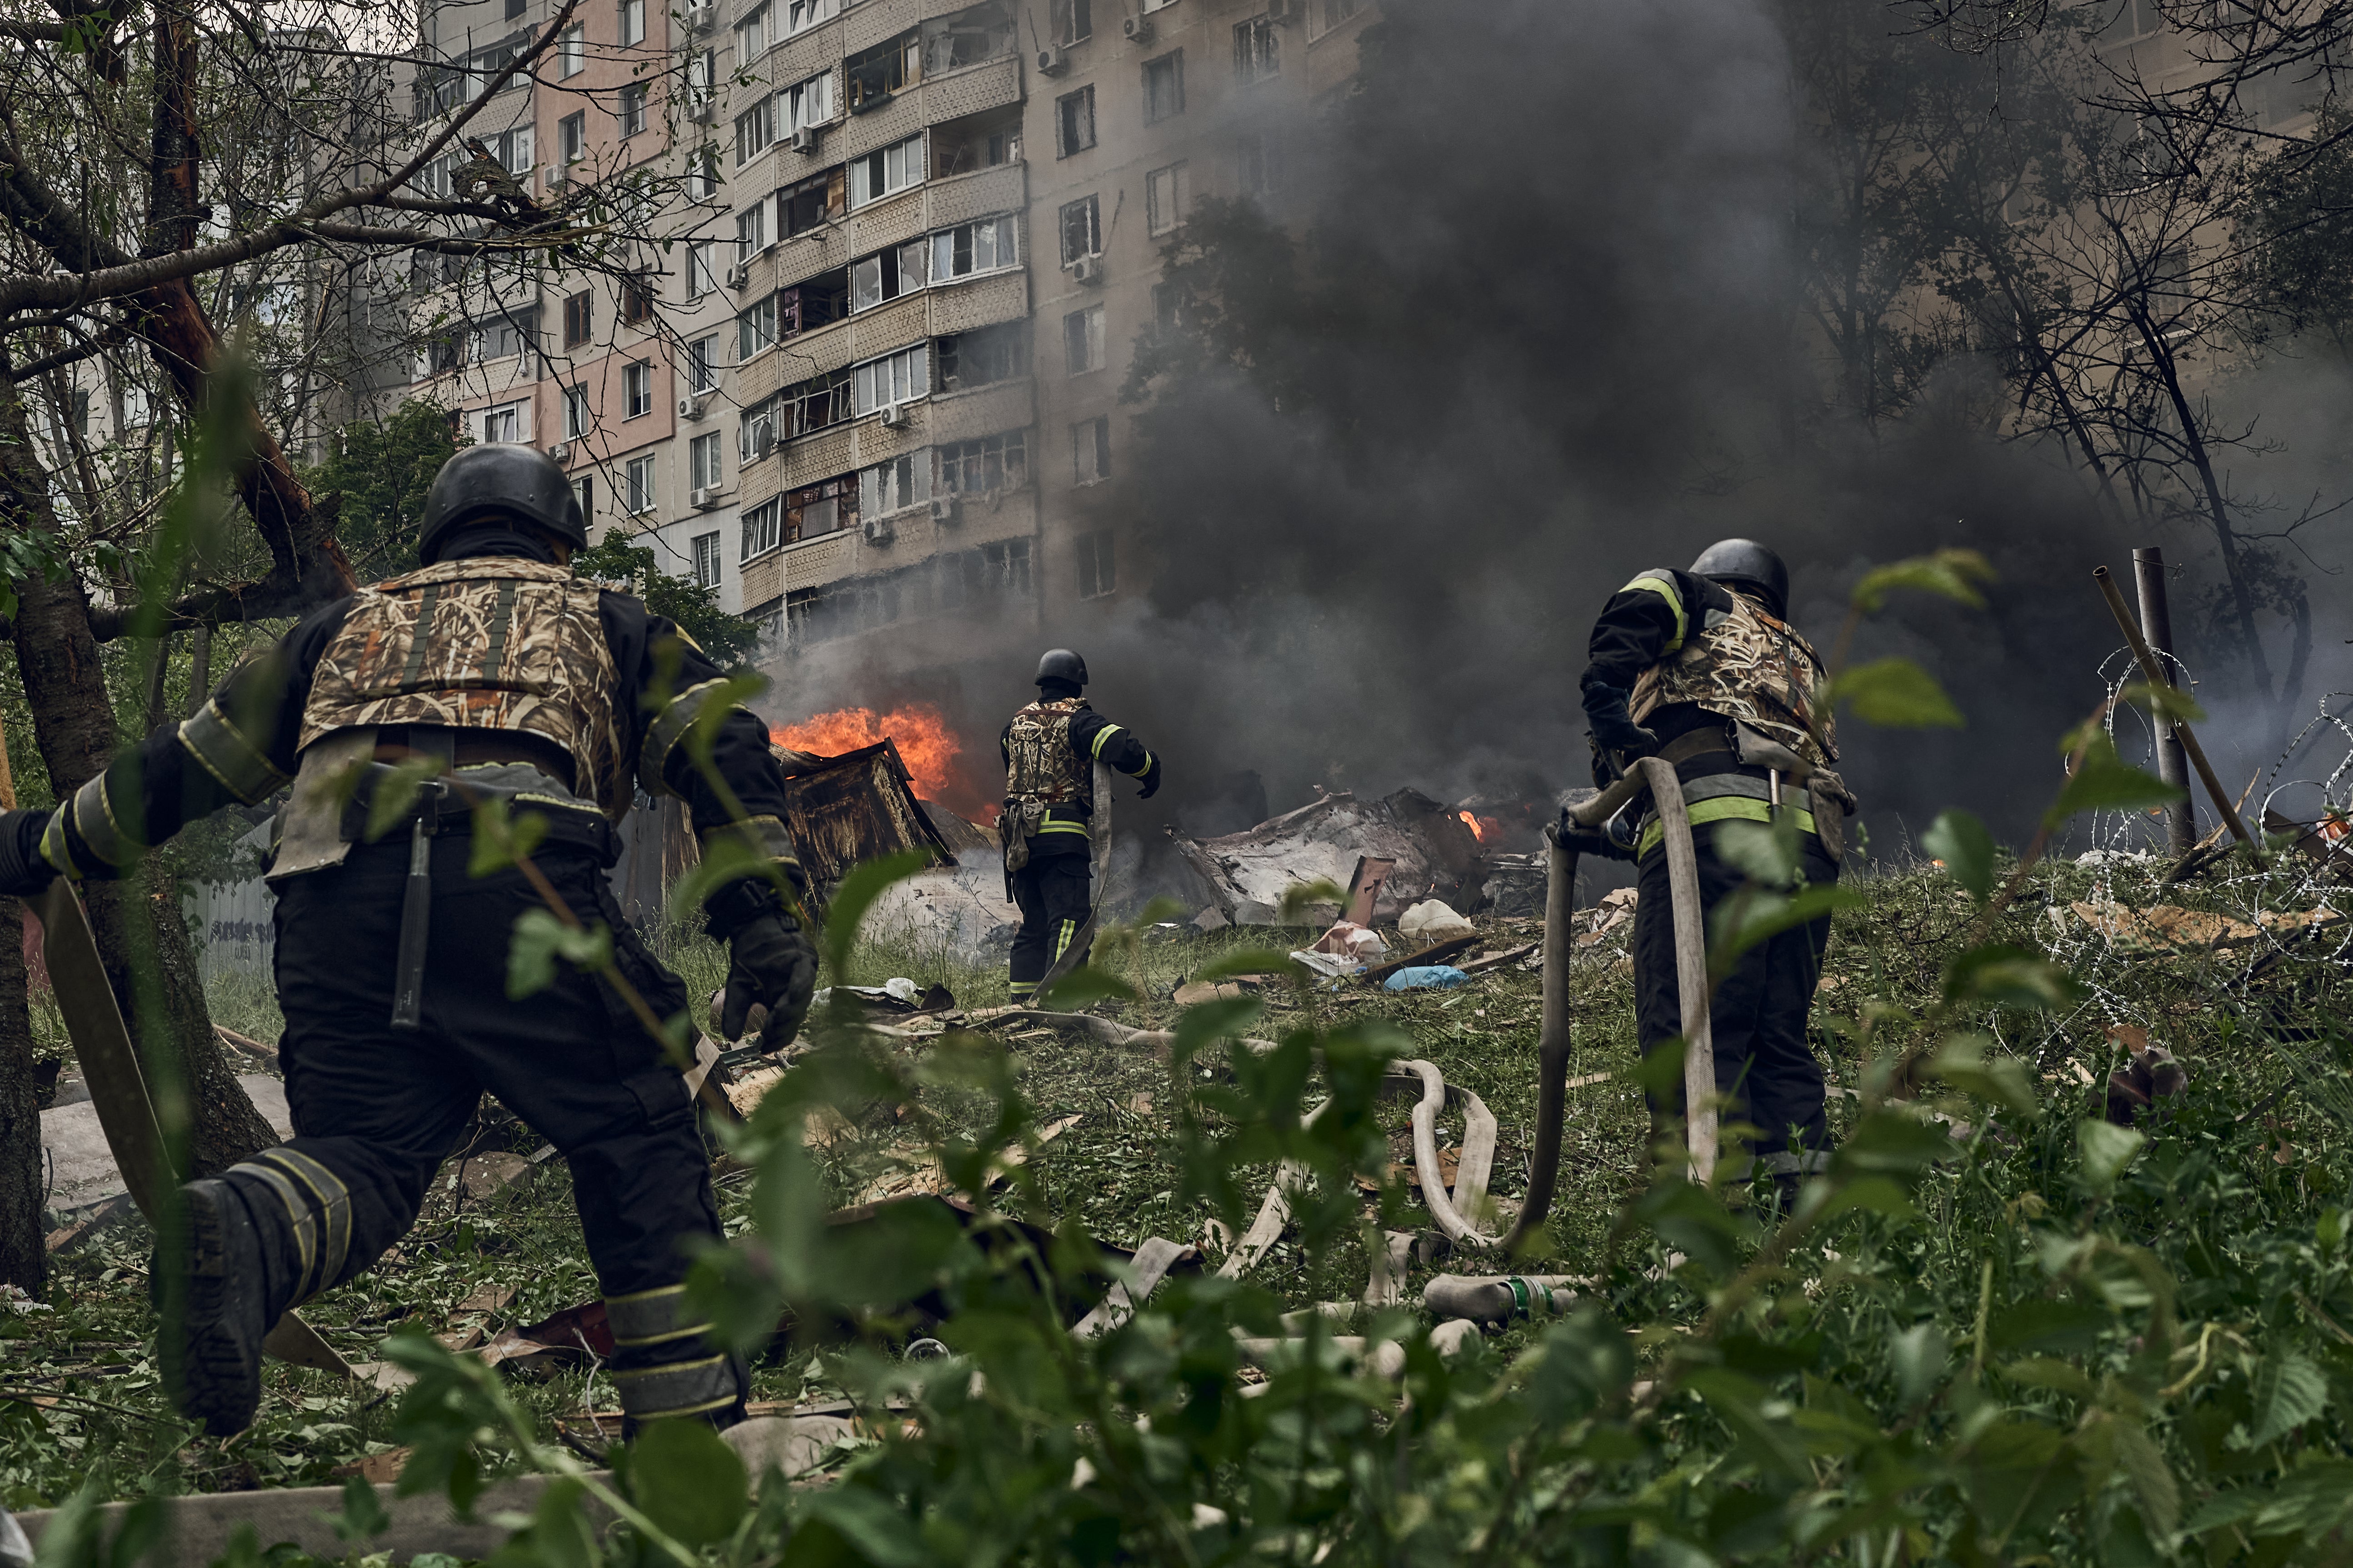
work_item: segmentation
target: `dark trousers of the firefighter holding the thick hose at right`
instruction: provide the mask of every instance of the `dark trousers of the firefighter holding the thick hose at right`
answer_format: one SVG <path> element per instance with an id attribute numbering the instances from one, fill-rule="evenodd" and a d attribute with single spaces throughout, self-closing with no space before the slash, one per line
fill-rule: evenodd
<path id="1" fill-rule="evenodd" d="M 1746 877 L 1715 853 L 1722 823 L 1692 830 L 1699 851 L 1699 900 L 1706 914 L 1737 893 Z M 1838 882 L 1838 865 L 1807 835 L 1805 879 Z M 1638 870 L 1642 896 L 1633 910 L 1633 985 L 1635 1034 L 1647 1056 L 1654 1046 L 1682 1034 L 1682 992 L 1675 980 L 1673 889 L 1666 875 L 1666 846 L 1642 856 Z M 1758 1128 L 1748 1154 L 1772 1175 L 1817 1168 L 1831 1147 L 1824 1117 L 1821 1063 L 1805 1037 L 1805 1020 L 1821 980 L 1821 954 L 1831 945 L 1831 919 L 1821 917 L 1793 931 L 1758 943 L 1715 987 L 1708 1020 L 1715 1034 L 1715 1088 L 1727 1098 L 1722 1124 L 1746 1121 Z M 1713 943 L 1711 943 L 1713 947 Z M 1682 1114 L 1682 1086 L 1654 1110 Z M 1744 1152 L 1722 1150 L 1725 1173 L 1748 1171 Z"/>

